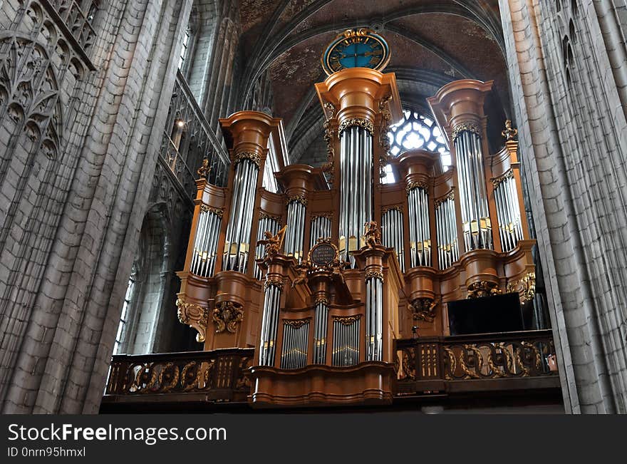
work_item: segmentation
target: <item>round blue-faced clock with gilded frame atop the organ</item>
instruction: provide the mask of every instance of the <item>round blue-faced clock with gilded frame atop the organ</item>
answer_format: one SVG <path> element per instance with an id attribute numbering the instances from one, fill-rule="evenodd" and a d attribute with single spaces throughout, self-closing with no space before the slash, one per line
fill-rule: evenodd
<path id="1" fill-rule="evenodd" d="M 322 56 L 322 67 L 329 76 L 346 68 L 381 71 L 390 61 L 385 39 L 371 29 L 348 29 L 331 42 Z"/>

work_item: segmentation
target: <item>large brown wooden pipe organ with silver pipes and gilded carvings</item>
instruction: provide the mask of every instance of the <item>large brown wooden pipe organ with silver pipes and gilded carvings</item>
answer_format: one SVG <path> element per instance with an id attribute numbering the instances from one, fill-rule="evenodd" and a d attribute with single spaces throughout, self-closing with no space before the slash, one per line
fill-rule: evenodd
<path id="1" fill-rule="evenodd" d="M 254 347 L 253 407 L 391 403 L 396 340 L 450 335 L 451 301 L 532 299 L 515 130 L 489 153 L 491 88 L 455 81 L 428 100 L 452 156 L 445 172 L 437 153 L 389 155 L 402 116 L 393 73 L 348 68 L 316 84 L 321 168 L 285 165 L 277 118 L 220 120 L 231 172 L 225 188 L 199 172 L 178 316 L 206 351 Z M 388 163 L 398 181 L 383 185 Z"/>

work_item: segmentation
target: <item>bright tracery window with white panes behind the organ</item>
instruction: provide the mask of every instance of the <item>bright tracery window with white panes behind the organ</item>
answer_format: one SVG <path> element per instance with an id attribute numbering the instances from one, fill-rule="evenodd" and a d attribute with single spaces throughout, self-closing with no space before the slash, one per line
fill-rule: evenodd
<path id="1" fill-rule="evenodd" d="M 398 156 L 407 150 L 423 148 L 434 153 L 440 153 L 442 171 L 451 165 L 451 156 L 446 146 L 446 140 L 437 122 L 430 116 L 418 113 L 418 111 L 403 110 L 403 120 L 390 126 L 388 132 L 390 142 L 390 155 Z M 390 165 L 383 167 L 381 183 L 390 184 L 396 182 L 394 172 Z"/>

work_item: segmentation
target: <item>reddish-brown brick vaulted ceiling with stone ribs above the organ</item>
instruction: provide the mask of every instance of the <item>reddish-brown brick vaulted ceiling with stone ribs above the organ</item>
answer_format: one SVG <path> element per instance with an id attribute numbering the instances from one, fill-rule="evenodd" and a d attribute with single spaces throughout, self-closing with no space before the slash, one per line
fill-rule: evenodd
<path id="1" fill-rule="evenodd" d="M 320 56 L 351 27 L 369 26 L 388 41 L 386 71 L 397 74 L 403 104 L 426 110 L 425 98 L 448 81 L 493 79 L 488 115 L 501 125 L 509 114 L 498 0 L 240 0 L 240 16 L 239 103 L 269 71 L 273 112 L 284 118 L 293 162 L 312 162 L 309 153 L 321 149 L 323 115 L 314 93 L 326 77 Z"/>

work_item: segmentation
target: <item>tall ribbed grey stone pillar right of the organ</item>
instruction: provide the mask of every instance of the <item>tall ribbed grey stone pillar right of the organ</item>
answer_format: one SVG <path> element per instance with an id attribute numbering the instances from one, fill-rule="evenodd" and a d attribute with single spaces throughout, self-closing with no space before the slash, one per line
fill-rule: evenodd
<path id="1" fill-rule="evenodd" d="M 627 412 L 627 98 L 612 1 L 499 2 L 566 411 Z"/>

